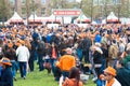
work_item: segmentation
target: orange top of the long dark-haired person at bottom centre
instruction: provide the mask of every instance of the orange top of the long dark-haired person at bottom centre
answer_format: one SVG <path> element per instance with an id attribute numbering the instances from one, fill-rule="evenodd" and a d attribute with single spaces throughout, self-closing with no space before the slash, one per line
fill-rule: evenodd
<path id="1" fill-rule="evenodd" d="M 76 78 L 66 78 L 63 86 L 76 86 Z M 82 82 L 79 81 L 78 86 L 83 86 Z"/>

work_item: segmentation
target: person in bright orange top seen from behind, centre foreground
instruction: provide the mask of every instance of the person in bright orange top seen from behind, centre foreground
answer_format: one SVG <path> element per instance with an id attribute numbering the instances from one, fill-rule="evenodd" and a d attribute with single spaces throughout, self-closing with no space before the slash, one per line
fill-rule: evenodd
<path id="1" fill-rule="evenodd" d="M 56 66 L 61 69 L 64 78 L 68 76 L 69 70 L 76 67 L 76 57 L 72 56 L 72 48 L 66 48 L 66 54 L 60 58 Z"/>

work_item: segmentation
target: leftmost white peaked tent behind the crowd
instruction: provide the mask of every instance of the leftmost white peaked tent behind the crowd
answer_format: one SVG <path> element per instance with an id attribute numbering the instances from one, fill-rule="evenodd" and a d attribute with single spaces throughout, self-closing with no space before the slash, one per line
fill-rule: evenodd
<path id="1" fill-rule="evenodd" d="M 23 23 L 24 19 L 16 12 L 14 12 L 13 16 L 8 22 L 9 23 Z"/>

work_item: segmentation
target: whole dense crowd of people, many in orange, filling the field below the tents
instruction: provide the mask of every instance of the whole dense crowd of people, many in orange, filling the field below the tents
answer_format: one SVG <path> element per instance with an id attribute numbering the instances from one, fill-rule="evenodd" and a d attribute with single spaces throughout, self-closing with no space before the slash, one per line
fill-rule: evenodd
<path id="1" fill-rule="evenodd" d="M 68 80 L 77 82 L 67 86 L 82 86 L 81 73 L 92 73 L 98 86 L 129 86 L 130 26 L 90 24 L 81 28 L 69 24 L 58 28 L 18 25 L 1 28 L 0 59 L 0 86 L 13 86 L 11 82 L 17 80 L 17 70 L 26 80 L 27 72 L 34 72 L 35 61 L 40 72 L 47 69 L 55 81 L 63 75 L 63 86 Z M 10 72 L 8 68 L 11 68 L 10 82 L 3 72 Z"/>

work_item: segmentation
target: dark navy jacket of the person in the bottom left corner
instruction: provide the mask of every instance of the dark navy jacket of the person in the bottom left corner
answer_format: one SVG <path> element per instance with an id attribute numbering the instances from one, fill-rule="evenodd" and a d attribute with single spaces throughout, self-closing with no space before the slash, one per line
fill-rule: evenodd
<path id="1" fill-rule="evenodd" d="M 13 75 L 10 67 L 6 67 L 1 72 L 0 86 L 13 86 Z"/>

